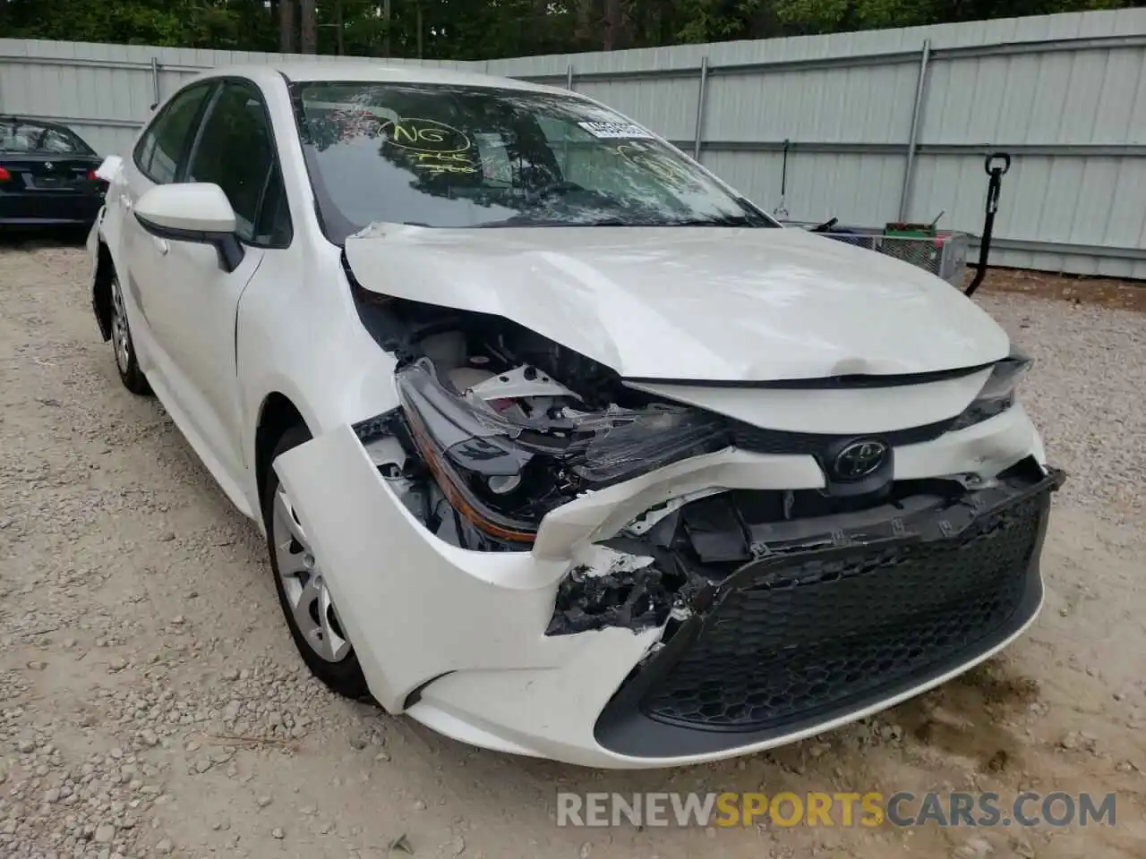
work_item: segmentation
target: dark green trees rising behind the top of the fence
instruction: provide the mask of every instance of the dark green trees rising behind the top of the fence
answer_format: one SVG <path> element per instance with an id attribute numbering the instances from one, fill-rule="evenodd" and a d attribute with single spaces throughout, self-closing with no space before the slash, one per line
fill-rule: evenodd
<path id="1" fill-rule="evenodd" d="M 1059 11 L 1144 0 L 316 0 L 322 54 L 485 60 L 762 39 Z M 298 0 L 0 0 L 0 37 L 281 50 Z M 419 33 L 421 27 L 421 33 Z M 290 31 L 288 31 L 290 32 Z M 421 34 L 421 38 L 419 38 Z M 339 38 L 339 36 L 342 38 Z"/>

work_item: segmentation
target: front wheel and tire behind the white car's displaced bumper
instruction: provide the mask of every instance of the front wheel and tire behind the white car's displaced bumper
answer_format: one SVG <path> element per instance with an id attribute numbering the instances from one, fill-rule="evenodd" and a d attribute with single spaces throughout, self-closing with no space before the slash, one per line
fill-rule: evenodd
<path id="1" fill-rule="evenodd" d="M 329 592 L 321 583 L 321 565 L 311 554 L 309 546 L 296 536 L 305 537 L 298 518 L 293 515 L 290 499 L 284 491 L 280 492 L 281 484 L 274 468 L 274 462 L 280 455 L 309 440 L 311 433 L 301 425 L 292 426 L 282 434 L 272 454 L 262 488 L 262 520 L 266 523 L 267 554 L 275 578 L 275 591 L 295 646 L 311 673 L 339 695 L 368 700 L 370 691 L 358 655 L 345 638 Z M 288 518 L 292 525 L 286 522 Z M 306 564 L 307 559 L 309 565 Z M 288 564 L 295 570 L 286 569 Z M 324 604 L 329 608 L 322 612 L 320 606 Z M 299 625 L 298 615 L 306 617 L 307 629 Z M 320 615 L 325 616 L 325 624 Z"/>

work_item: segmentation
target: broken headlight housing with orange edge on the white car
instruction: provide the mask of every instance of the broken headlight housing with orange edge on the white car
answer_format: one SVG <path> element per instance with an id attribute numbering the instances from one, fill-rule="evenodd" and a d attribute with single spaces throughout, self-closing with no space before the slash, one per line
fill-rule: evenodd
<path id="1" fill-rule="evenodd" d="M 531 543 L 541 519 L 599 489 L 728 443 L 720 416 L 680 405 L 610 405 L 575 400 L 520 421 L 450 391 L 432 362 L 397 375 L 410 441 L 454 510 L 497 539 Z"/>

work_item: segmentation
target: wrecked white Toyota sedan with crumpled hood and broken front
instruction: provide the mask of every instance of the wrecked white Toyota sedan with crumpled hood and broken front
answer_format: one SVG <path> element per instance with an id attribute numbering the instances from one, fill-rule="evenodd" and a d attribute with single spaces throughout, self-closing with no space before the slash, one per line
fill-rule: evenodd
<path id="1" fill-rule="evenodd" d="M 1029 360 L 575 93 L 220 70 L 110 158 L 93 307 L 267 535 L 332 689 L 652 767 L 790 742 L 1031 623 Z"/>

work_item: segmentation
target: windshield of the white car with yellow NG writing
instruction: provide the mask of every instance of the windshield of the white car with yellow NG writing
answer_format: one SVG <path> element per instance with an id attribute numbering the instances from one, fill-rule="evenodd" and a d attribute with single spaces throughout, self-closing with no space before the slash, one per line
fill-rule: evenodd
<path id="1" fill-rule="evenodd" d="M 775 227 L 675 149 L 574 96 L 307 82 L 299 133 L 331 241 L 422 227 Z"/>

